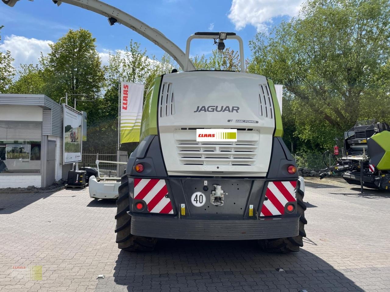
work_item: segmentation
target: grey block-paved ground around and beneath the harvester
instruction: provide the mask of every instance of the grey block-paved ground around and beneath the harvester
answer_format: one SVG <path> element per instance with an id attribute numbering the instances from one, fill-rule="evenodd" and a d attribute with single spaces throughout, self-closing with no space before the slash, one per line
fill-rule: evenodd
<path id="1" fill-rule="evenodd" d="M 252 241 L 165 240 L 154 252 L 123 252 L 115 202 L 93 201 L 88 190 L 2 194 L 0 290 L 388 292 L 390 194 L 365 192 L 308 181 L 308 237 L 289 255 Z"/>

